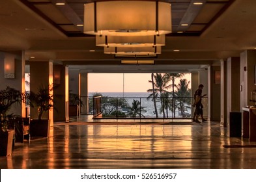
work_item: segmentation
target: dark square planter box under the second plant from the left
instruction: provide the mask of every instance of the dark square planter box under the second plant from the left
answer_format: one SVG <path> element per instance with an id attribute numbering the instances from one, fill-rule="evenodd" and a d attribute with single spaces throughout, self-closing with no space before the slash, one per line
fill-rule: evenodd
<path id="1" fill-rule="evenodd" d="M 48 137 L 50 133 L 50 120 L 31 120 L 30 136 Z"/>

